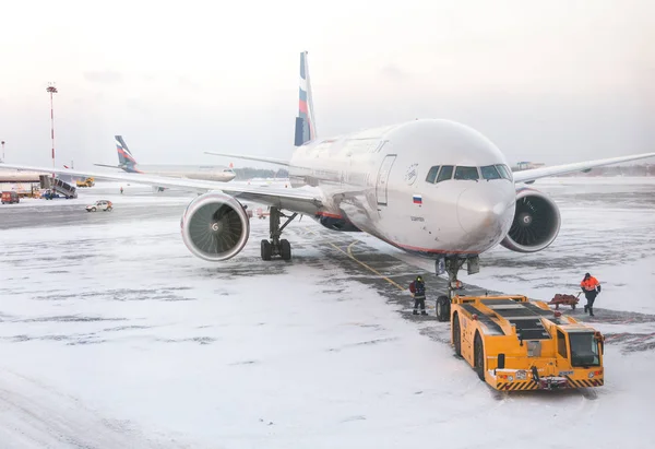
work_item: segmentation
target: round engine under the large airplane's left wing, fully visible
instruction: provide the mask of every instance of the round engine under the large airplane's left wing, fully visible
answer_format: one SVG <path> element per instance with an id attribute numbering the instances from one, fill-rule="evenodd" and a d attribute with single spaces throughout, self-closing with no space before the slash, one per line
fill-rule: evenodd
<path id="1" fill-rule="evenodd" d="M 221 192 L 205 193 L 191 201 L 180 227 L 187 248 L 210 262 L 235 257 L 250 236 L 250 220 L 243 205 Z"/>

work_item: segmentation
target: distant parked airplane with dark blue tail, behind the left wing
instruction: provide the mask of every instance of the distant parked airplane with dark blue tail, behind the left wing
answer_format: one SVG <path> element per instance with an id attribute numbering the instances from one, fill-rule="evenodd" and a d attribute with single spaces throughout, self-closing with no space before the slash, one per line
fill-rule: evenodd
<path id="1" fill-rule="evenodd" d="M 228 182 L 237 176 L 225 166 L 216 165 L 143 165 L 138 164 L 122 135 L 115 135 L 118 165 L 94 164 L 98 167 L 120 168 L 127 173 L 148 174 L 184 179 L 202 179 Z M 157 186 L 158 187 L 158 186 Z"/>

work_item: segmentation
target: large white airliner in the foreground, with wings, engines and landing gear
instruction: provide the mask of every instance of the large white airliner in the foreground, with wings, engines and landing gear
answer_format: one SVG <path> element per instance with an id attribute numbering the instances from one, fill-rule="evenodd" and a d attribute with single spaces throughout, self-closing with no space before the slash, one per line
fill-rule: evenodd
<path id="1" fill-rule="evenodd" d="M 479 256 L 497 245 L 516 252 L 536 252 L 557 238 L 561 224 L 557 204 L 525 184 L 655 156 L 643 153 L 512 173 L 488 138 L 444 119 L 415 119 L 319 138 L 307 51 L 300 54 L 295 125 L 296 150 L 289 161 L 212 153 L 285 166 L 291 188 L 226 186 L 147 175 L 139 175 L 139 182 L 201 193 L 182 213 L 180 227 L 187 248 L 206 261 L 230 259 L 245 247 L 250 222 L 243 200 L 270 206 L 270 238 L 260 243 L 263 260 L 291 258 L 290 244 L 282 234 L 299 214 L 331 231 L 365 232 L 406 252 L 432 259 L 436 273 L 446 274 L 449 280 L 449 296 L 437 302 L 440 320 L 448 319 L 449 297 L 461 286 L 457 273 L 464 264 L 475 274 Z M 59 172 L 134 180 L 131 174 Z M 282 218 L 286 218 L 284 224 Z"/>

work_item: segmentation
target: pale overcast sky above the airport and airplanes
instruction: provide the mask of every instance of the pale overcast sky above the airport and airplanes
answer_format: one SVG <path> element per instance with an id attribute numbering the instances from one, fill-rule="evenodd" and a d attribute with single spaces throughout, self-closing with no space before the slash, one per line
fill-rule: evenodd
<path id="1" fill-rule="evenodd" d="M 655 151 L 653 17 L 650 0 L 14 1 L 0 139 L 51 165 L 53 81 L 57 165 L 118 163 L 114 134 L 144 164 L 289 157 L 307 49 L 321 137 L 449 118 L 512 163 Z"/>

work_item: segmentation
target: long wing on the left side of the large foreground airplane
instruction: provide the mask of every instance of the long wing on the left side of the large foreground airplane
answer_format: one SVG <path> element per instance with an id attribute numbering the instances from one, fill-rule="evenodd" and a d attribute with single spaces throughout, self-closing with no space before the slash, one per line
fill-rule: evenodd
<path id="1" fill-rule="evenodd" d="M 205 193 L 209 191 L 222 191 L 240 200 L 253 201 L 262 204 L 286 209 L 293 212 L 313 215 L 323 208 L 323 199 L 315 189 L 291 189 L 270 186 L 248 186 L 226 182 L 180 179 L 164 176 L 148 176 L 131 173 L 100 173 L 79 169 L 33 167 L 28 165 L 0 164 L 0 168 L 12 168 L 21 172 L 52 173 L 57 175 L 93 177 L 112 181 L 143 184 L 154 187 L 167 187 L 187 191 Z"/>

